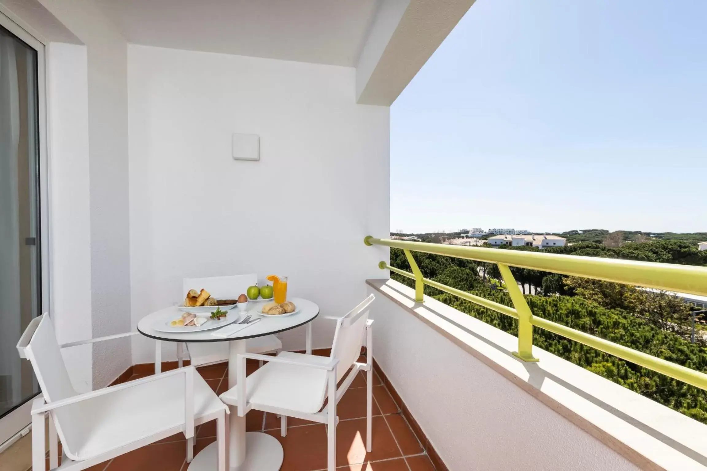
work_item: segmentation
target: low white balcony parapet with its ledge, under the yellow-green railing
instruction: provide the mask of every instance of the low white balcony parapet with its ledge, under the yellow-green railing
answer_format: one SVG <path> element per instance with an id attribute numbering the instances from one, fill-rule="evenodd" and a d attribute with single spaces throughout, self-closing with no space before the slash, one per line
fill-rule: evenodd
<path id="1" fill-rule="evenodd" d="M 539 347 L 522 362 L 515 336 L 400 282 L 366 283 L 382 294 L 375 359 L 450 469 L 707 470 L 707 425 Z"/>

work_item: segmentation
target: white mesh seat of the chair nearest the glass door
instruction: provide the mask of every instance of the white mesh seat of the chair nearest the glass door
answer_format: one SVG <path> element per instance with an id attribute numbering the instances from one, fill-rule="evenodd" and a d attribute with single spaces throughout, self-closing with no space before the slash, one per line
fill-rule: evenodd
<path id="1" fill-rule="evenodd" d="M 149 407 L 145 407 L 149 405 Z M 86 460 L 146 439 L 184 423 L 184 378 L 161 381 L 91 398 L 57 413 L 74 420 L 65 452 L 72 460 Z M 223 410 L 223 403 L 198 374 L 194 375 L 194 424 Z"/>

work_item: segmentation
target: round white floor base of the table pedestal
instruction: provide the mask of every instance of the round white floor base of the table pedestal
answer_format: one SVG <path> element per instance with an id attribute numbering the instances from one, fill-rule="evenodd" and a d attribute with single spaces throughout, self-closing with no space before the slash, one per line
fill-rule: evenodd
<path id="1" fill-rule="evenodd" d="M 189 463 L 187 471 L 216 471 L 216 442 L 206 446 Z M 274 436 L 259 431 L 245 434 L 245 461 L 230 471 L 278 471 L 282 466 L 284 451 Z"/>

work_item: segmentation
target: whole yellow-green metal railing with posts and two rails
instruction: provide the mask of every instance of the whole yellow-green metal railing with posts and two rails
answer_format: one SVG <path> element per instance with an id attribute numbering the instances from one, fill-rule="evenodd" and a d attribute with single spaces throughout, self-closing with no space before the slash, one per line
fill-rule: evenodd
<path id="1" fill-rule="evenodd" d="M 656 288 L 658 290 L 685 292 L 690 294 L 707 295 L 707 268 L 685 265 L 672 265 L 670 263 L 650 263 L 616 258 L 595 258 L 573 255 L 540 254 L 538 252 L 487 249 L 484 247 L 451 246 L 444 244 L 428 244 L 424 242 L 409 242 L 391 239 L 376 239 L 368 236 L 363 240 L 366 245 L 382 245 L 395 247 L 404 251 L 410 263 L 412 273 L 380 262 L 381 269 L 403 275 L 415 280 L 415 300 L 423 302 L 424 285 L 435 287 L 440 291 L 448 292 L 467 301 L 479 304 L 501 314 L 506 314 L 518 319 L 518 352 L 513 352 L 525 362 L 537 362 L 532 356 L 532 327 L 536 326 L 549 330 L 557 335 L 583 343 L 602 352 L 612 354 L 628 362 L 643 366 L 644 368 L 658 371 L 659 373 L 675 378 L 707 390 L 707 374 L 694 369 L 686 368 L 679 364 L 668 362 L 652 355 L 638 352 L 623 345 L 609 342 L 580 330 L 563 326 L 559 323 L 532 315 L 530 307 L 525 302 L 518 283 L 515 282 L 509 266 L 541 270 L 562 275 L 580 276 L 595 280 L 623 283 L 625 285 L 638 285 Z M 412 252 L 425 252 L 427 254 L 444 255 L 467 260 L 496 263 L 501 271 L 506 289 L 513 302 L 513 308 L 493 302 L 490 299 L 475 296 L 474 294 L 457 290 L 428 278 L 423 278 L 415 262 Z"/>

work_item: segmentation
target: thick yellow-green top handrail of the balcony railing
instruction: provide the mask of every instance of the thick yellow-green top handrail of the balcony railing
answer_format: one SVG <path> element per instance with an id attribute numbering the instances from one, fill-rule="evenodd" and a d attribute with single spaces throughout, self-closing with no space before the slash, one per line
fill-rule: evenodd
<path id="1" fill-rule="evenodd" d="M 518 268 L 547 271 L 561 275 L 636 285 L 657 290 L 707 295 L 707 268 L 674 263 L 642 262 L 621 258 L 601 258 L 539 252 L 490 249 L 376 239 L 368 236 L 367 245 L 382 245 L 426 254 L 444 255 L 467 260 L 503 263 Z"/>

